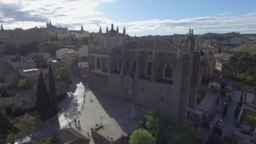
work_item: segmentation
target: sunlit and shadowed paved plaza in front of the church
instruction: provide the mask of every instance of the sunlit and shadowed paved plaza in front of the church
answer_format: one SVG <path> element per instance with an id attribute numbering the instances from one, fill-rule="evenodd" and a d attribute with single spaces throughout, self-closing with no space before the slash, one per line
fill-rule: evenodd
<path id="1" fill-rule="evenodd" d="M 124 133 L 129 133 L 136 125 L 136 120 L 131 120 L 132 104 L 129 101 L 121 101 L 109 94 L 102 93 L 96 89 L 90 90 L 85 79 L 79 77 L 72 77 L 72 84 L 70 85 L 67 96 L 58 103 L 61 113 L 58 116 L 51 118 L 44 122 L 45 128 L 41 131 L 39 138 L 52 136 L 54 132 L 62 128 L 68 128 L 69 123 L 77 131 L 83 135 L 91 138 L 91 128 L 97 124 L 106 123 L 109 120 L 115 123 L 115 133 L 108 133 L 109 135 L 121 135 L 121 127 Z M 85 92 L 85 88 L 87 91 Z M 135 115 L 144 115 L 146 109 L 139 106 L 134 106 Z M 81 129 L 74 123 L 74 118 L 77 123 L 80 120 Z M 117 132 L 117 133 L 116 133 Z M 19 143 L 29 141 L 30 138 L 19 137 Z M 94 144 L 91 138 L 90 144 Z"/>

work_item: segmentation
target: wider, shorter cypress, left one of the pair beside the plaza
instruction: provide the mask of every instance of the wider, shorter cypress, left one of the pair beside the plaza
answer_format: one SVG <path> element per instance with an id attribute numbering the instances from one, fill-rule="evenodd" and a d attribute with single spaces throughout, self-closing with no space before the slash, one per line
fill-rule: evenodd
<path id="1" fill-rule="evenodd" d="M 49 108 L 49 96 L 45 86 L 45 80 L 43 79 L 43 74 L 40 72 L 37 82 L 37 110 L 41 114 L 45 114 Z"/>

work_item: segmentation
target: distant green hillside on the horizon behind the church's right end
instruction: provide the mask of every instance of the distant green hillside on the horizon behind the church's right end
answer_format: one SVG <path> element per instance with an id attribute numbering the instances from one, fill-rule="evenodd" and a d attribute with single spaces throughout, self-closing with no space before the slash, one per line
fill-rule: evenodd
<path id="1" fill-rule="evenodd" d="M 206 33 L 195 35 L 201 39 L 202 48 L 208 48 L 209 45 L 218 45 L 222 51 L 233 53 L 235 51 L 248 51 L 256 53 L 256 34 L 240 34 L 239 32 L 230 32 L 225 34 Z M 184 40 L 186 35 L 178 35 Z M 141 38 L 148 39 L 172 39 L 173 35 L 148 35 Z M 184 41 L 183 41 L 184 43 Z"/>

